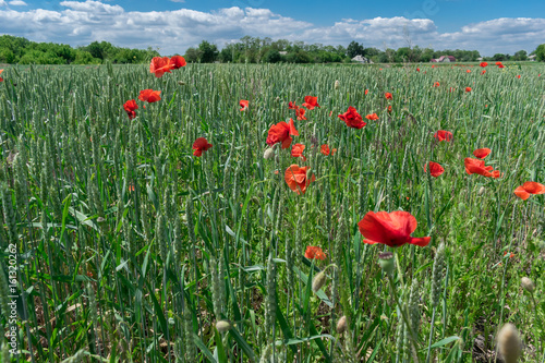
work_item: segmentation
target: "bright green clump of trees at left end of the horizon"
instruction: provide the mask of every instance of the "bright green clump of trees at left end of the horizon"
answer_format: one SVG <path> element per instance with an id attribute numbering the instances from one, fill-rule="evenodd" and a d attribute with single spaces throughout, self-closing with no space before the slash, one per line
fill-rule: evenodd
<path id="1" fill-rule="evenodd" d="M 23 37 L 0 36 L 0 63 L 19 64 L 100 64 L 147 63 L 159 53 L 146 50 L 114 47 L 108 41 L 93 41 L 88 46 L 72 48 L 55 43 L 35 43 Z"/>

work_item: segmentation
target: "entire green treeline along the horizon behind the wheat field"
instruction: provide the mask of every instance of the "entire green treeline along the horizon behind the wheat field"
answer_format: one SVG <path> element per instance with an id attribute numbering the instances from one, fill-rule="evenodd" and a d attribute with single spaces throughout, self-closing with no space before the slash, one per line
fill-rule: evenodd
<path id="1" fill-rule="evenodd" d="M 545 61 L 545 44 L 531 55 Z M 531 56 L 530 55 L 530 56 Z M 53 43 L 35 43 L 23 37 L 0 36 L 0 63 L 19 64 L 100 64 L 105 60 L 112 63 L 147 63 L 160 55 L 147 49 L 120 48 L 108 41 L 93 41 L 88 46 L 72 48 Z M 355 56 L 363 56 L 374 63 L 417 63 L 429 62 L 441 56 L 453 56 L 457 62 L 476 62 L 481 58 L 476 50 L 434 50 L 431 48 L 402 47 L 398 49 L 365 48 L 358 41 L 348 47 L 324 46 L 271 38 L 245 36 L 239 41 L 228 44 L 223 49 L 206 40 L 198 47 L 189 48 L 184 58 L 193 63 L 350 63 Z M 529 59 L 525 50 L 514 55 L 497 53 L 484 58 L 486 61 L 524 61 Z"/>

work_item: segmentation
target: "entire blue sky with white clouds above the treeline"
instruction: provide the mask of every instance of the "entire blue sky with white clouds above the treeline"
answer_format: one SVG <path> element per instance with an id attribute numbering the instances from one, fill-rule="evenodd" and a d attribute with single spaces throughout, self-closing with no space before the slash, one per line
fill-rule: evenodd
<path id="1" fill-rule="evenodd" d="M 0 34 L 72 46 L 150 46 L 166 56 L 203 39 L 221 48 L 244 35 L 492 56 L 545 43 L 545 1 L 0 0 Z"/>

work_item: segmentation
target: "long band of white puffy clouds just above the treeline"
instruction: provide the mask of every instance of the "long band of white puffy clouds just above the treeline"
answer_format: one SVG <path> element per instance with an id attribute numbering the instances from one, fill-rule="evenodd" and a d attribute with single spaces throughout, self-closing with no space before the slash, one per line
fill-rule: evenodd
<path id="1" fill-rule="evenodd" d="M 171 0 L 183 2 L 184 0 Z M 269 9 L 232 7 L 209 12 L 125 11 L 100 1 L 61 1 L 58 10 L 15 11 L 0 0 L 0 34 L 24 36 L 35 41 L 73 46 L 107 40 L 116 46 L 159 49 L 161 55 L 183 53 L 201 40 L 222 47 L 244 35 L 274 39 L 344 45 L 356 40 L 384 49 L 408 45 L 435 49 L 477 49 L 482 55 L 533 50 L 545 38 L 545 19 L 496 19 L 464 25 L 458 32 L 439 33 L 429 19 L 404 16 L 342 19 L 330 26 L 276 14 Z"/>

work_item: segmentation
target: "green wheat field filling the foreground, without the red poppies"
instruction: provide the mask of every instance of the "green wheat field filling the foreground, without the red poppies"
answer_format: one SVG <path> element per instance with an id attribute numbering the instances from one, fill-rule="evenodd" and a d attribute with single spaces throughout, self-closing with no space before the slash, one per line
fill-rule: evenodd
<path id="1" fill-rule="evenodd" d="M 514 190 L 545 183 L 545 65 L 1 76 L 1 362 L 544 361 L 545 195 Z M 467 171 L 480 148 L 499 178 Z M 397 210 L 427 245 L 364 243 Z"/>

